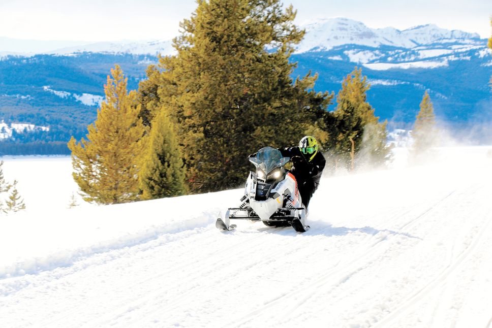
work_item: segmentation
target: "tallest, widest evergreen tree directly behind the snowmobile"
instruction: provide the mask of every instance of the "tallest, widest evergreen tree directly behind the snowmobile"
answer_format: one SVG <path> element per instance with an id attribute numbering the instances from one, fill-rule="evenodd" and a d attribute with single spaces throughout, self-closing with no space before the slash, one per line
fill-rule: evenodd
<path id="1" fill-rule="evenodd" d="M 246 154 L 324 128 L 332 95 L 312 90 L 316 75 L 291 78 L 288 59 L 304 35 L 294 17 L 280 0 L 198 1 L 180 24 L 177 55 L 161 58 L 160 73 L 147 72 L 142 105 L 150 118 L 165 108 L 176 122 L 192 192 L 237 186 Z"/>

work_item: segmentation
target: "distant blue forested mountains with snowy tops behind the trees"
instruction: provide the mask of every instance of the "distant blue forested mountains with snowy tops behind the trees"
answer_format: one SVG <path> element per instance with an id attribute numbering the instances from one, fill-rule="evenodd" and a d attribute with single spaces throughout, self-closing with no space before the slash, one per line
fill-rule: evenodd
<path id="1" fill-rule="evenodd" d="M 371 84 L 368 102 L 376 115 L 389 120 L 390 129 L 411 128 L 425 90 L 444 125 L 464 128 L 492 121 L 488 84 L 492 56 L 486 40 L 477 34 L 433 24 L 405 30 L 373 29 L 346 18 L 318 20 L 302 27 L 304 40 L 291 56 L 298 63 L 293 77 L 317 72 L 315 89 L 336 93 L 354 67 L 362 68 Z M 10 50 L 0 48 L 0 53 Z M 0 58 L 0 119 L 9 124 L 49 126 L 50 130 L 4 140 L 0 154 L 26 153 L 25 144 L 36 142 L 57 143 L 56 151 L 68 152 L 65 144 L 70 136 L 83 137 L 87 124 L 96 118 L 106 76 L 115 63 L 128 76 L 129 88 L 135 89 L 145 79 L 147 66 L 158 62 L 157 53 L 173 51 L 170 41 L 128 41 L 4 55 Z M 488 129 L 473 138 L 479 142 L 492 138 L 492 133 L 484 135 L 483 131 Z"/>

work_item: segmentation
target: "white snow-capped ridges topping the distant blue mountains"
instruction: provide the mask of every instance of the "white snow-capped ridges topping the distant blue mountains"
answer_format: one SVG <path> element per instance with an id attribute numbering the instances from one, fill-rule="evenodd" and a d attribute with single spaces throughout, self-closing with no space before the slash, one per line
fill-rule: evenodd
<path id="1" fill-rule="evenodd" d="M 296 53 L 326 51 L 336 46 L 349 44 L 375 48 L 391 46 L 412 49 L 418 46 L 436 43 L 454 43 L 457 45 L 481 45 L 483 43 L 480 40 L 480 36 L 476 33 L 448 30 L 440 28 L 435 24 L 398 30 L 393 27 L 370 28 L 362 22 L 348 18 L 329 18 L 319 19 L 300 27 L 305 29 L 306 34 L 302 42 L 296 46 Z M 19 49 L 27 49 L 26 44 L 22 44 L 22 48 L 19 48 L 14 41 L 0 42 L 0 54 L 19 55 L 22 53 L 19 52 Z M 41 43 L 42 41 L 36 41 L 36 47 L 33 48 L 33 51 L 24 52 L 24 54 L 33 55 L 43 53 L 67 55 L 81 52 L 96 52 L 170 55 L 174 53 L 171 40 L 96 42 L 85 45 L 76 44 L 70 47 L 52 48 L 53 50 L 49 51 L 39 51 L 37 49 L 47 49 L 50 45 L 53 47 L 57 44 L 53 41 L 46 41 L 46 44 L 43 46 Z M 13 45 L 15 45 L 15 49 L 12 48 Z"/>

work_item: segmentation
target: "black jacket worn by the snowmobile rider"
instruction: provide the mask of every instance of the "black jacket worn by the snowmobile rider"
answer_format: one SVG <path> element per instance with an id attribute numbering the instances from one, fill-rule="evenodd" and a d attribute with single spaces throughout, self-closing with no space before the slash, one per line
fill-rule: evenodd
<path id="1" fill-rule="evenodd" d="M 294 174 L 297 179 L 299 188 L 310 189 L 314 192 L 320 184 L 321 174 L 325 168 L 325 157 L 318 151 L 311 161 L 308 161 L 304 154 L 299 150 L 298 146 L 278 148 L 284 157 L 299 156 L 300 159 L 294 160 Z M 311 157 L 311 154 L 305 154 L 306 157 Z"/>

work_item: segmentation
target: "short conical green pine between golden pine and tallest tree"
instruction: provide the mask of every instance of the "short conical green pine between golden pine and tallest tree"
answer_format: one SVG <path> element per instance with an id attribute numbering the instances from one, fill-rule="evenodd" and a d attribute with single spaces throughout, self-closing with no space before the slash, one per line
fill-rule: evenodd
<path id="1" fill-rule="evenodd" d="M 152 121 L 147 153 L 139 172 L 142 199 L 157 199 L 186 193 L 185 169 L 168 111 Z"/>

